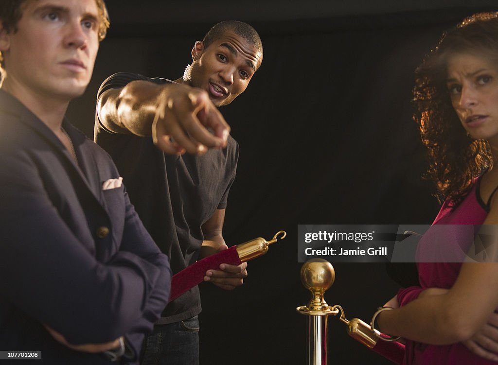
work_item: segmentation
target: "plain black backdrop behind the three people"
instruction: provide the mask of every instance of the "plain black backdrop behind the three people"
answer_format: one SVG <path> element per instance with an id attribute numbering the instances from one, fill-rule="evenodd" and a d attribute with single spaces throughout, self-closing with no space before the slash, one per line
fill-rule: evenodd
<path id="1" fill-rule="evenodd" d="M 241 147 L 224 232 L 229 245 L 269 239 L 281 229 L 288 236 L 249 263 L 243 287 L 224 292 L 201 285 L 201 364 L 305 364 L 305 318 L 295 307 L 306 304 L 309 293 L 299 278 L 298 224 L 432 221 L 437 204 L 421 179 L 424 150 L 412 122 L 413 70 L 443 30 L 492 9 L 448 2 L 400 12 L 351 6 L 338 15 L 330 15 L 330 8 L 310 15 L 308 5 L 301 5 L 304 18 L 288 10 L 279 17 L 278 3 L 274 16 L 257 15 L 254 4 L 246 16 L 242 4 L 237 10 L 230 3 L 227 10 L 228 2 L 215 1 L 208 16 L 195 11 L 197 1 L 177 17 L 162 2 L 143 9 L 109 2 L 113 24 L 94 77 L 69 111 L 89 136 L 96 91 L 110 74 L 176 79 L 191 60 L 194 42 L 227 18 L 248 21 L 263 41 L 262 67 L 248 90 L 221 110 Z M 158 20 L 155 10 L 169 21 Z M 326 300 L 341 304 L 348 318 L 370 321 L 398 288 L 383 264 L 334 266 L 336 282 Z M 333 318 L 329 336 L 330 364 L 388 364 L 350 339 Z"/>

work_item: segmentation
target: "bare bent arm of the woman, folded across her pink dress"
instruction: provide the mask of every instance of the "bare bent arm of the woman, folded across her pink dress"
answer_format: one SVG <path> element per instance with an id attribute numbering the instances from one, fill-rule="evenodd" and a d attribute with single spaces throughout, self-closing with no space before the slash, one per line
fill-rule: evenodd
<path id="1" fill-rule="evenodd" d="M 498 204 L 493 202 L 483 227 L 494 229 L 497 223 Z M 399 309 L 384 311 L 377 317 L 378 325 L 382 332 L 427 344 L 465 342 L 493 318 L 498 307 L 497 287 L 498 263 L 466 262 L 452 288 L 438 295 L 435 291 L 422 293 Z"/>

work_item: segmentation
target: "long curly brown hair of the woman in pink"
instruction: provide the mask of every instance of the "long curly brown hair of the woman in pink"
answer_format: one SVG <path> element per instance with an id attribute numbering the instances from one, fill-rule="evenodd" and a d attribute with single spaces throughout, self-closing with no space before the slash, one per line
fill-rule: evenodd
<path id="1" fill-rule="evenodd" d="M 426 178 L 435 181 L 436 197 L 457 206 L 472 181 L 493 165 L 486 140 L 471 138 L 453 109 L 447 88 L 447 63 L 457 53 L 492 56 L 498 60 L 498 12 L 477 13 L 444 33 L 415 70 L 414 120 L 428 149 Z"/>

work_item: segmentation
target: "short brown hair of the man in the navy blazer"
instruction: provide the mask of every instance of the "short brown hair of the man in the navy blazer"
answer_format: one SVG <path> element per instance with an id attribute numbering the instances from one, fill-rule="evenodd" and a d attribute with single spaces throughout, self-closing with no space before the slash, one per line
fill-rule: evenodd
<path id="1" fill-rule="evenodd" d="M 7 33 L 17 31 L 17 22 L 22 16 L 22 5 L 28 0 L 1 0 L 0 6 L 0 23 Z M 104 0 L 95 0 L 99 11 L 99 41 L 102 41 L 109 28 L 109 13 L 107 12 Z M 0 52 L 0 71 L 3 68 L 3 57 Z"/>

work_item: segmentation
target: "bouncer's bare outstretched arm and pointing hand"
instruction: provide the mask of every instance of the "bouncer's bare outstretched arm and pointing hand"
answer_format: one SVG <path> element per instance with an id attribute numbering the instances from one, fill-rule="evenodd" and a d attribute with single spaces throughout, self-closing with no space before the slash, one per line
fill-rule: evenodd
<path id="1" fill-rule="evenodd" d="M 113 77 L 119 80 L 119 75 Z M 97 103 L 99 121 L 107 130 L 152 135 L 166 153 L 202 154 L 226 146 L 230 127 L 205 91 L 149 80 L 115 86 L 105 89 Z"/>

